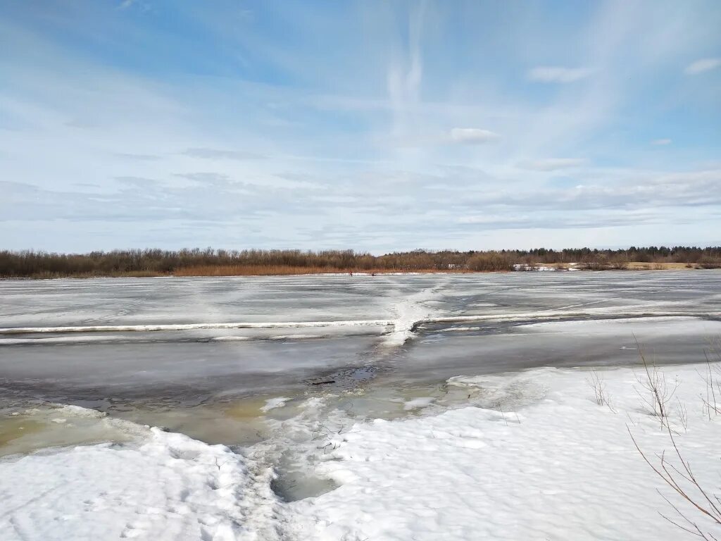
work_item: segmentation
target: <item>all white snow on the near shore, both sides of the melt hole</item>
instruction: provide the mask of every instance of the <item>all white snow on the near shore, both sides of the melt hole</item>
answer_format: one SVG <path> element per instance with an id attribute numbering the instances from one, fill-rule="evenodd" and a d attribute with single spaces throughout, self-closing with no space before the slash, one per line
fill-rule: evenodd
<path id="1" fill-rule="evenodd" d="M 467 392 L 472 406 L 441 411 L 415 399 L 415 417 L 348 423 L 309 439 L 307 467 L 339 486 L 292 503 L 270 490 L 273 470 L 260 447 L 236 454 L 158 429 L 143 429 L 136 444 L 10 457 L 0 461 L 0 538 L 693 539 L 660 516 L 689 524 L 657 489 L 720 537 L 634 447 L 629 431 L 651 462 L 665 450 L 681 468 L 668 431 L 645 409 L 642 374 L 596 372 L 609 400 L 601 405 L 587 370 L 453 378 L 448 388 Z M 719 494 L 721 416 L 704 407 L 708 367 L 666 366 L 663 374 L 668 391 L 676 388 L 668 402 L 674 439 L 709 495 Z M 317 402 L 306 400 L 299 417 Z"/>

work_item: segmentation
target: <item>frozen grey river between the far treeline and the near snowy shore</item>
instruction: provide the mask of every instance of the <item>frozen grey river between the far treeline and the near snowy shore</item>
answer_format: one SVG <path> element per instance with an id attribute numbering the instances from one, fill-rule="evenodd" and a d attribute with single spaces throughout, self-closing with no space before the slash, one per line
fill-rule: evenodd
<path id="1" fill-rule="evenodd" d="M 636 340 L 697 362 L 721 329 L 716 271 L 3 281 L 0 299 L 0 385 L 63 403 L 624 365 Z"/>

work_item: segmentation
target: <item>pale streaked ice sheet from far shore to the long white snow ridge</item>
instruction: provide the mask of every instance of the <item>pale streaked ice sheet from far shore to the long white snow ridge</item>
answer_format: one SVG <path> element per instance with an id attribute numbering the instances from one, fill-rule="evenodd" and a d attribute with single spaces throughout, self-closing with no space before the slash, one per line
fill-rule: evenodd
<path id="1" fill-rule="evenodd" d="M 721 273 L 97 278 L 0 281 L 2 327 L 404 322 L 494 313 L 718 312 Z M 163 327 L 161 327 L 163 328 Z"/>

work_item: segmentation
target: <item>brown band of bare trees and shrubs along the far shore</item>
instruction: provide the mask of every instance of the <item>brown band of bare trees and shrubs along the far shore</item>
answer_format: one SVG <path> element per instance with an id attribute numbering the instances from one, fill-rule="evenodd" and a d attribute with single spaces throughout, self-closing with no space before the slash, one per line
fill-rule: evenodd
<path id="1" fill-rule="evenodd" d="M 721 247 L 630 247 L 437 252 L 371 255 L 353 250 L 113 250 L 87 254 L 0 251 L 0 277 L 208 276 L 308 272 L 511 271 L 522 265 L 577 263 L 579 268 L 627 268 L 630 262 L 721 267 Z M 514 267 L 514 265 L 516 265 Z"/>

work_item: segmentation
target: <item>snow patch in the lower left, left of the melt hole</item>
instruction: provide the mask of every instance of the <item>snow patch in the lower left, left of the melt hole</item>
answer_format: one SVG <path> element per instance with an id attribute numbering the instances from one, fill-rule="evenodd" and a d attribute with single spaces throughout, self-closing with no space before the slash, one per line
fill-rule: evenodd
<path id="1" fill-rule="evenodd" d="M 257 539 L 274 498 L 227 447 L 151 428 L 135 447 L 0 461 L 0 501 L 6 541 L 230 541 Z"/>

